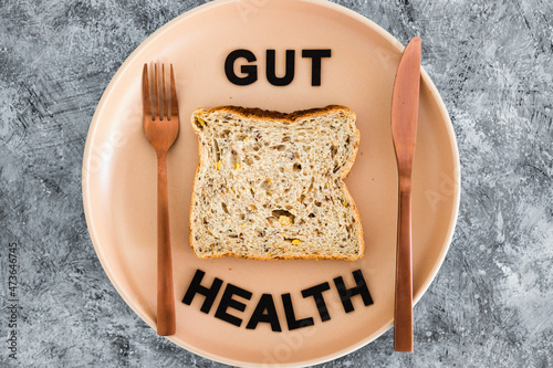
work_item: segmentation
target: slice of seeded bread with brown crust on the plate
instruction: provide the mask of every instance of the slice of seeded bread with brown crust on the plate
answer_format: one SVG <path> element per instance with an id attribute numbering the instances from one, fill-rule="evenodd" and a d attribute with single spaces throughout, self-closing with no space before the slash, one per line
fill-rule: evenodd
<path id="1" fill-rule="evenodd" d="M 359 145 L 355 114 L 222 106 L 191 116 L 200 161 L 190 211 L 199 257 L 357 260 L 359 214 L 343 178 Z"/>

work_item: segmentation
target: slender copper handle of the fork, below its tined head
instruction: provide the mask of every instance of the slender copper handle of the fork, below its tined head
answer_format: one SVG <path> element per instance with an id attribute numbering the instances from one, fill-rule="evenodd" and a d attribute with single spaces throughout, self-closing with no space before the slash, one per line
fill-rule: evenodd
<path id="1" fill-rule="evenodd" d="M 167 153 L 157 155 L 157 335 L 176 332 L 173 292 L 169 199 L 167 194 Z"/>

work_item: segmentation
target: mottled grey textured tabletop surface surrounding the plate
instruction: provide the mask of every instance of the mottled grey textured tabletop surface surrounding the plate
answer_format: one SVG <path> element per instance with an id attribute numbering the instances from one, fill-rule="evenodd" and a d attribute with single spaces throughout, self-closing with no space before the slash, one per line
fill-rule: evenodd
<path id="1" fill-rule="evenodd" d="M 160 25 L 204 1 L 0 2 L 0 366 L 219 367 L 143 323 L 107 280 L 83 214 L 96 104 Z M 451 115 L 462 193 L 453 242 L 415 307 L 416 354 L 389 330 L 321 367 L 553 366 L 553 3 L 340 0 L 404 44 Z M 8 244 L 19 244 L 19 354 L 8 357 Z"/>

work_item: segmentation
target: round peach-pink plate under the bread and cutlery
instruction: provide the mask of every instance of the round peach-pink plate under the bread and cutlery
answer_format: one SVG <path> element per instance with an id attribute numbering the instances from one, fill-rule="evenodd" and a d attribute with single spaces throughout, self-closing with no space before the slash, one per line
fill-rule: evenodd
<path id="1" fill-rule="evenodd" d="M 284 77 L 286 50 L 294 56 L 291 81 Z M 149 36 L 107 86 L 83 161 L 91 238 L 106 274 L 133 311 L 155 327 L 157 171 L 143 132 L 140 73 L 144 63 L 173 63 L 182 123 L 168 156 L 177 301 L 177 334 L 169 339 L 229 365 L 298 366 L 348 354 L 390 328 L 397 171 L 389 112 L 401 51 L 403 45 L 372 21 L 326 1 L 215 1 Z M 291 63 L 288 66 L 290 72 Z M 361 146 L 345 182 L 363 221 L 364 259 L 197 259 L 188 242 L 198 164 L 192 111 L 239 105 L 292 112 L 330 104 L 357 114 Z M 459 182 L 451 123 L 422 72 L 413 183 L 415 301 L 447 253 Z M 352 295 L 341 297 L 341 285 Z M 188 304 L 182 302 L 187 292 Z"/>

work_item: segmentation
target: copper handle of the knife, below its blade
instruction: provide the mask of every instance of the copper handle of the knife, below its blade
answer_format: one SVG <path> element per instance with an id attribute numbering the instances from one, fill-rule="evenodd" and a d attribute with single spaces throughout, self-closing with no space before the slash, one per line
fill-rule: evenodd
<path id="1" fill-rule="evenodd" d="M 413 351 L 411 188 L 399 180 L 394 349 Z"/>

